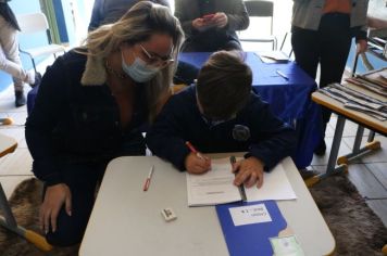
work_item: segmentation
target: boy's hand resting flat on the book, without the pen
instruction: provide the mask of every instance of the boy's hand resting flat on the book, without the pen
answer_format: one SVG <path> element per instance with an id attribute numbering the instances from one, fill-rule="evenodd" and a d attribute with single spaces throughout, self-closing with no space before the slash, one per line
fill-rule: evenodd
<path id="1" fill-rule="evenodd" d="M 261 188 L 263 184 L 263 166 L 262 161 L 250 156 L 247 159 L 239 161 L 233 165 L 233 172 L 237 172 L 234 179 L 235 185 L 245 183 L 247 188 L 255 184 Z"/>

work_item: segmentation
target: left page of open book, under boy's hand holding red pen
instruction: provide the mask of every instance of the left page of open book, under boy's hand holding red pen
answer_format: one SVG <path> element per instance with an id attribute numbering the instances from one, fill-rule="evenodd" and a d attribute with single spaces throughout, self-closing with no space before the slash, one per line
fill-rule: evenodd
<path id="1" fill-rule="evenodd" d="M 202 175 L 187 172 L 189 206 L 216 205 L 240 201 L 238 187 L 228 158 L 211 161 L 212 169 Z"/>

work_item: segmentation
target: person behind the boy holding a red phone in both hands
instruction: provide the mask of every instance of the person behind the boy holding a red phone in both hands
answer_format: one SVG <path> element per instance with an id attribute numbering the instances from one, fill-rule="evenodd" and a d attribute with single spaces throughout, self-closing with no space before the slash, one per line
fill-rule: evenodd
<path id="1" fill-rule="evenodd" d="M 249 26 L 242 0 L 175 0 L 186 40 L 183 52 L 242 50 L 237 30 Z"/>

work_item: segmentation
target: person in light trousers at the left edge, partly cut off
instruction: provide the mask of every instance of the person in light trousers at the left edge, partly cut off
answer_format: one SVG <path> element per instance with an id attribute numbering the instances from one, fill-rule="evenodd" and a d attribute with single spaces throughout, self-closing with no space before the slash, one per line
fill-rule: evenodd
<path id="1" fill-rule="evenodd" d="M 8 5 L 10 0 L 0 0 L 0 69 L 10 74 L 15 89 L 15 106 L 26 104 L 23 84 L 35 87 L 40 81 L 40 74 L 35 71 L 26 72 L 22 67 L 18 53 L 16 17 Z"/>

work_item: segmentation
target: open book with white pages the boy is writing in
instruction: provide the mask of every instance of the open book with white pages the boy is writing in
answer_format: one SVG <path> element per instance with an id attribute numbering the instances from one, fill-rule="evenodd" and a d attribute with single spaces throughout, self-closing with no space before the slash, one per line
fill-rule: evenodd
<path id="1" fill-rule="evenodd" d="M 212 169 L 203 175 L 187 172 L 189 206 L 216 205 L 241 201 L 238 187 L 233 184 L 234 174 L 228 158 L 212 159 Z M 297 199 L 279 163 L 270 172 L 264 172 L 263 185 L 245 188 L 247 202 Z"/>

